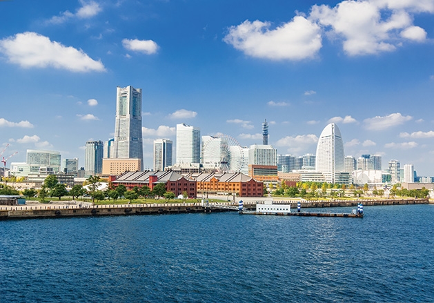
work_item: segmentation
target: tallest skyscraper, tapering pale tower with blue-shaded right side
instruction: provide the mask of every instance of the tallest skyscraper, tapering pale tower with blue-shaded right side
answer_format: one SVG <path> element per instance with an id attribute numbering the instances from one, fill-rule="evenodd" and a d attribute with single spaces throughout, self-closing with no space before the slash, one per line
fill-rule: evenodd
<path id="1" fill-rule="evenodd" d="M 117 87 L 115 159 L 140 159 L 143 170 L 143 139 L 141 136 L 141 88 Z"/>

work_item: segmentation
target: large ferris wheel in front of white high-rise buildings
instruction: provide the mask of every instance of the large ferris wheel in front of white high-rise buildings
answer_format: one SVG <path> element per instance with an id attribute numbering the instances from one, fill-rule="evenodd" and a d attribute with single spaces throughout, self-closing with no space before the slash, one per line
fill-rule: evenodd
<path id="1" fill-rule="evenodd" d="M 217 170 L 222 172 L 238 171 L 241 165 L 241 146 L 230 135 L 209 137 L 202 148 L 202 160 L 204 163 L 215 164 Z"/>

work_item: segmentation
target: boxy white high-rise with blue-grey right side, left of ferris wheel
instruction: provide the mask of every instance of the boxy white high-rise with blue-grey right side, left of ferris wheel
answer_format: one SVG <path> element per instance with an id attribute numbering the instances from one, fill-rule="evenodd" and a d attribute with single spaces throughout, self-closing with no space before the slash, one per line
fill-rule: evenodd
<path id="1" fill-rule="evenodd" d="M 177 164 L 200 163 L 200 128 L 177 124 Z"/>

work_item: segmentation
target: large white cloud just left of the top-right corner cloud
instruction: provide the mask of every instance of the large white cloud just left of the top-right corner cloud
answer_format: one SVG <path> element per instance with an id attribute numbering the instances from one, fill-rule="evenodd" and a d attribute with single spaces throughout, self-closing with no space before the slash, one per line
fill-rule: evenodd
<path id="1" fill-rule="evenodd" d="M 270 22 L 246 20 L 231 26 L 224 41 L 248 56 L 273 60 L 313 58 L 322 46 L 319 26 L 305 17 L 270 27 Z"/>

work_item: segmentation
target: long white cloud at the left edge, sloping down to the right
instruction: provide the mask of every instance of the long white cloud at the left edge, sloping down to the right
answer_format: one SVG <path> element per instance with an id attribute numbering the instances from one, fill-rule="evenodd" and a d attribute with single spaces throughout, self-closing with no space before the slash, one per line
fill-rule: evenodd
<path id="1" fill-rule="evenodd" d="M 70 72 L 103 72 L 101 61 L 95 61 L 83 50 L 63 46 L 36 32 L 23 32 L 0 40 L 0 52 L 10 63 L 22 68 L 57 68 Z"/>

